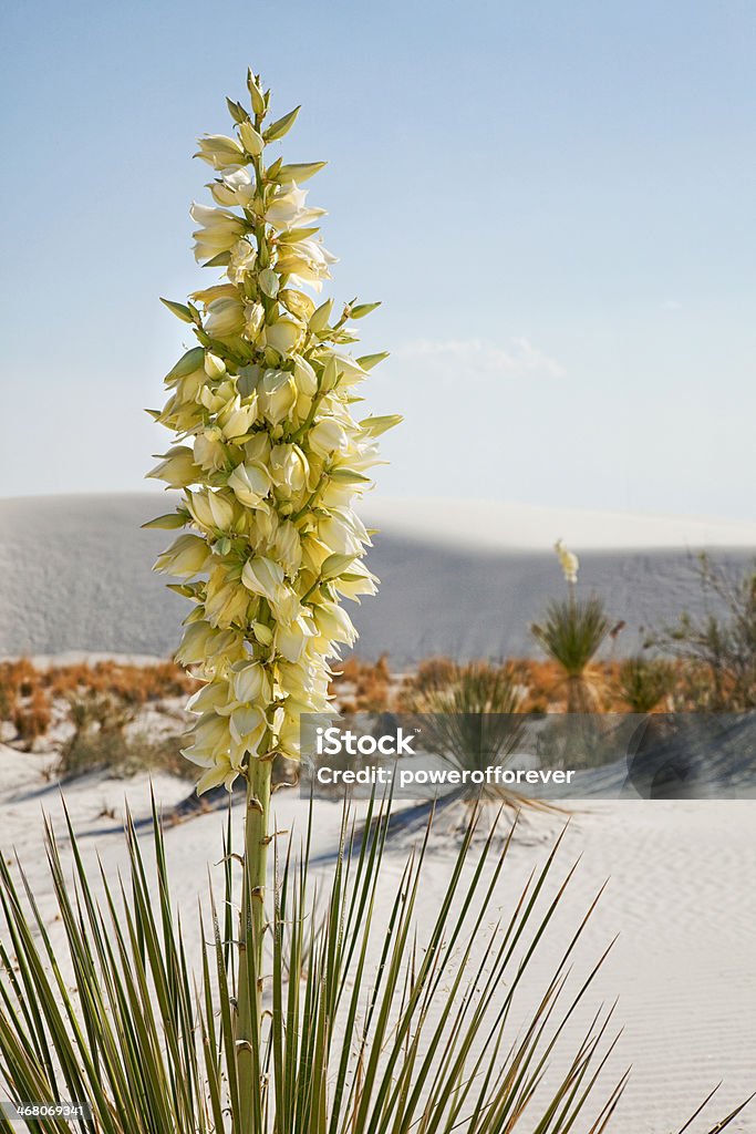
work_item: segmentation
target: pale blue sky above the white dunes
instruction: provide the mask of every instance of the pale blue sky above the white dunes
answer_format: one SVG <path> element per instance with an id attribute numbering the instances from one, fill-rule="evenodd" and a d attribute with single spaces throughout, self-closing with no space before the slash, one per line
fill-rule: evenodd
<path id="1" fill-rule="evenodd" d="M 750 0 L 10 0 L 0 496 L 138 490 L 247 64 L 392 357 L 387 496 L 753 516 Z"/>

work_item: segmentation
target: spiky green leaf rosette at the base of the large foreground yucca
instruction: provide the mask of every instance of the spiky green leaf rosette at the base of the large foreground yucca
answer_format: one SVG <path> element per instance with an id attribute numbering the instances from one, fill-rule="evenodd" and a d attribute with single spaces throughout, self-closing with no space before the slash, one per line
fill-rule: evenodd
<path id="1" fill-rule="evenodd" d="M 79 1120 L 79 1128 L 108 1134 L 598 1134 L 608 1128 L 627 1081 L 621 1075 L 609 1086 L 600 1083 L 614 1042 L 611 1012 L 592 1014 L 571 1057 L 549 1074 L 603 960 L 572 983 L 576 946 L 595 903 L 566 938 L 529 1018 L 511 1022 L 521 1016 L 524 991 L 533 1002 L 534 957 L 572 873 L 554 880 L 559 844 L 511 913 L 491 929 L 511 833 L 502 845 L 492 829 L 475 849 L 473 815 L 435 921 L 421 929 L 415 906 L 427 833 L 397 883 L 387 870 L 387 813 L 374 814 L 373 807 L 371 833 L 359 850 L 345 815 L 324 916 L 314 916 L 312 813 L 301 854 L 294 853 L 290 839 L 277 855 L 264 974 L 256 967 L 253 922 L 245 942 L 235 937 L 239 894 L 230 818 L 222 904 L 211 894 L 201 909 L 210 929 L 202 931 L 197 973 L 171 903 L 154 805 L 154 861 L 145 861 L 129 820 L 128 872 L 117 885 L 102 872 L 90 878 L 70 823 L 69 882 L 48 827 L 65 955 L 53 947 L 20 866 L 11 869 L 2 858 L 0 1072 L 10 1098 L 87 1102 L 91 1117 Z M 245 1052 L 233 1025 L 237 946 L 246 946 L 247 984 L 257 990 L 248 1006 L 253 1039 L 246 1053 L 254 1088 L 246 1098 Z M 0 1124 L 11 1128 L 6 1117 Z M 27 1126 L 45 1134 L 67 1128 L 46 1117 Z"/>

